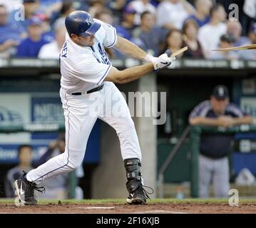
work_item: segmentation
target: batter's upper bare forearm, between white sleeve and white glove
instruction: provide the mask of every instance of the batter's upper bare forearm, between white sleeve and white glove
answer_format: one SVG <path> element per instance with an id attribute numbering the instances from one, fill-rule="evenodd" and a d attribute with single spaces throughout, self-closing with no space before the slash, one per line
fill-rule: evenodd
<path id="1" fill-rule="evenodd" d="M 143 51 L 137 45 L 120 36 L 118 36 L 115 48 L 124 53 L 126 56 L 138 58 L 142 61 L 145 61 L 145 56 L 148 55 L 148 53 Z"/>

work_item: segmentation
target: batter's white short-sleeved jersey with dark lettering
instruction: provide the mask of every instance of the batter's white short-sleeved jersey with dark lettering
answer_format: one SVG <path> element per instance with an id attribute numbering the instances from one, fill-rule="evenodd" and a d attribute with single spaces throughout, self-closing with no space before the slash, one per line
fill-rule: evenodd
<path id="1" fill-rule="evenodd" d="M 116 44 L 116 28 L 93 20 L 101 24 L 93 46 L 79 46 L 66 33 L 60 54 L 61 88 L 69 93 L 85 92 L 101 85 L 112 66 L 104 46 L 111 48 Z"/>

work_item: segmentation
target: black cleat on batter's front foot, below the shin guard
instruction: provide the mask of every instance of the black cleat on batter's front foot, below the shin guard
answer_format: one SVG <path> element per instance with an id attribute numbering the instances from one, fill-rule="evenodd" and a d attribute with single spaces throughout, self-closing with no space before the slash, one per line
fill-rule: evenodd
<path id="1" fill-rule="evenodd" d="M 147 199 L 150 199 L 148 194 L 153 194 L 154 190 L 151 187 L 148 187 L 152 192 L 147 192 L 143 187 L 148 187 L 144 185 L 139 185 L 134 192 L 130 192 L 126 202 L 128 204 L 145 204 Z"/>

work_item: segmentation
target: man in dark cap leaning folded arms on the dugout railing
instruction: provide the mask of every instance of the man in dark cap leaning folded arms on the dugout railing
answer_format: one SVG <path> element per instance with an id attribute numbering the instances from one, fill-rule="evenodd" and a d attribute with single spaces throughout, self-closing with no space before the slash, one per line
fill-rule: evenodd
<path id="1" fill-rule="evenodd" d="M 252 117 L 246 115 L 235 104 L 229 102 L 226 86 L 216 86 L 210 100 L 197 105 L 189 116 L 190 125 L 221 126 L 252 124 Z M 215 197 L 228 197 L 230 174 L 228 155 L 231 152 L 232 136 L 208 133 L 201 135 L 199 155 L 200 197 L 209 197 L 210 182 L 213 180 Z"/>

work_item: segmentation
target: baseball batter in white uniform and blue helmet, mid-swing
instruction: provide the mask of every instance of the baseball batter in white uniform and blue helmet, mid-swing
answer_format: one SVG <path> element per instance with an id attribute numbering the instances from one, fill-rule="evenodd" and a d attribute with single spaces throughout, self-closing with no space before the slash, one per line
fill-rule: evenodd
<path id="1" fill-rule="evenodd" d="M 92 19 L 86 11 L 74 11 L 66 17 L 66 42 L 60 53 L 61 101 L 65 115 L 66 148 L 61 155 L 31 170 L 14 182 L 19 200 L 36 204 L 38 184 L 81 165 L 86 143 L 97 118 L 116 130 L 126 169 L 128 204 L 145 204 L 148 198 L 141 177 L 141 152 L 138 136 L 126 100 L 114 83 L 128 83 L 151 71 L 170 65 L 175 58 L 165 53 L 158 58 L 116 35 L 116 28 Z M 133 58 L 146 61 L 142 66 L 118 71 L 111 65 L 104 47 L 117 48 Z M 111 102 L 110 102 L 111 101 Z M 112 110 L 118 101 L 121 113 Z"/>

